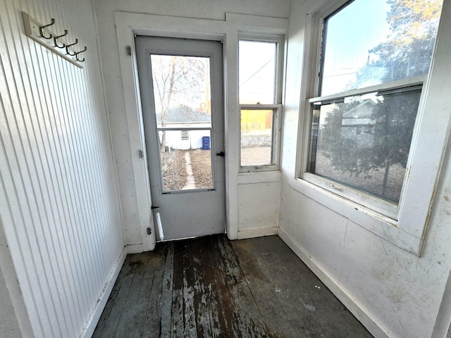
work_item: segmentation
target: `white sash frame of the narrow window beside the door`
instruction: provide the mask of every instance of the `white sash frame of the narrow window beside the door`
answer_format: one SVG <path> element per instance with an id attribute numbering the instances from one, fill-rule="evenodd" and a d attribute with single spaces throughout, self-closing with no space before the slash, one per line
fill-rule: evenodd
<path id="1" fill-rule="evenodd" d="M 276 44 L 276 71 L 274 74 L 274 103 L 273 104 L 240 104 L 240 88 L 238 86 L 238 115 L 240 121 L 238 163 L 239 173 L 259 173 L 280 170 L 280 148 L 282 130 L 282 97 L 283 97 L 283 64 L 285 50 L 285 35 L 266 35 L 261 33 L 242 32 L 238 35 L 238 54 L 240 41 L 273 42 Z M 240 71 L 238 58 L 237 71 Z M 238 76 L 239 77 L 239 76 Z M 241 111 L 273 111 L 273 127 L 271 140 L 271 163 L 256 165 L 241 165 Z"/>

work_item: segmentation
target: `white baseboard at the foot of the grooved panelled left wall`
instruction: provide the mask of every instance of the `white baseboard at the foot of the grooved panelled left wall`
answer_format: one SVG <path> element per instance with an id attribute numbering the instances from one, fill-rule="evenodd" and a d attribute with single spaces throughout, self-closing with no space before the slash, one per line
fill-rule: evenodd
<path id="1" fill-rule="evenodd" d="M 94 333 L 97 323 L 99 322 L 101 313 L 104 311 L 106 301 L 108 301 L 108 298 L 111 294 L 111 290 L 113 289 L 114 283 L 116 282 L 116 279 L 118 278 L 118 275 L 121 272 L 121 268 L 125 261 L 126 256 L 127 249 L 126 247 L 124 247 L 124 249 L 121 252 L 121 255 L 119 255 L 118 259 L 116 260 L 116 263 L 111 269 L 111 273 L 108 277 L 108 280 L 105 283 L 104 289 L 101 291 L 99 299 L 94 308 L 92 309 L 91 315 L 89 315 L 89 319 L 87 320 L 87 323 L 83 328 L 82 333 L 80 334 L 80 338 L 92 337 L 92 334 Z"/>

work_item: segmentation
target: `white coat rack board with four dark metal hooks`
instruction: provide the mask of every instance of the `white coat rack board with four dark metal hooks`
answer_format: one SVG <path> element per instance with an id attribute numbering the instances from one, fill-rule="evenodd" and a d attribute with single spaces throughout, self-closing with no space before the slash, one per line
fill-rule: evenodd
<path id="1" fill-rule="evenodd" d="M 80 63 L 85 62 L 85 57 L 82 56 L 82 54 L 87 51 L 87 46 L 84 48 L 78 46 L 78 39 L 68 42 L 66 37 L 68 35 L 68 30 L 64 30 L 64 32 L 61 32 L 60 34 L 53 32 L 51 28 L 56 22 L 55 19 L 52 18 L 50 23 L 42 25 L 25 12 L 22 12 L 22 18 L 27 37 L 42 44 L 42 46 L 53 51 L 55 54 L 58 54 L 58 56 L 61 56 L 61 58 L 66 59 L 77 67 L 83 68 Z"/>

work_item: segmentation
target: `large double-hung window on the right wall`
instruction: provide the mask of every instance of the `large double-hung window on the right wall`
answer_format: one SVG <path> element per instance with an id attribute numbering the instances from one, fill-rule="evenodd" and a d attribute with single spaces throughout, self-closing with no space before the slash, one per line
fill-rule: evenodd
<path id="1" fill-rule="evenodd" d="M 393 220 L 441 9 L 416 2 L 354 0 L 326 16 L 307 104 L 302 179 Z"/>

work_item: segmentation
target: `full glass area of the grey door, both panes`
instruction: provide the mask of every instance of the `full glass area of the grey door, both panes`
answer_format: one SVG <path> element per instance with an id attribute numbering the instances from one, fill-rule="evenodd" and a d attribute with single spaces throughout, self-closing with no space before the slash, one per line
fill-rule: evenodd
<path id="1" fill-rule="evenodd" d="M 163 192 L 213 189 L 210 59 L 151 61 Z"/>

